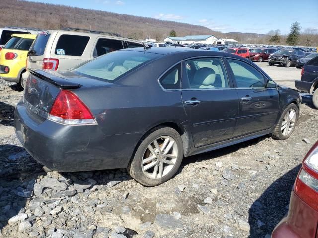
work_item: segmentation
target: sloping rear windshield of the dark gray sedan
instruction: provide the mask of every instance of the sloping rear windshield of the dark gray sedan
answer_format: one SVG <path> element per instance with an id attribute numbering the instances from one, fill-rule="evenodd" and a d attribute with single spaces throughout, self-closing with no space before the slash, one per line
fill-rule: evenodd
<path id="1" fill-rule="evenodd" d="M 72 71 L 82 76 L 112 82 L 132 69 L 158 57 L 158 54 L 148 52 L 115 51 L 81 64 Z"/>

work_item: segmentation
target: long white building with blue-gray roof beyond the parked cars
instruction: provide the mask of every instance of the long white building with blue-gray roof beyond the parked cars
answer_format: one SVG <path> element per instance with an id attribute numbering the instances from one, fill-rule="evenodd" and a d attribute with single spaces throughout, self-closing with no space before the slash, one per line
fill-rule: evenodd
<path id="1" fill-rule="evenodd" d="M 173 37 L 168 36 L 163 41 L 164 42 L 173 42 L 178 44 L 193 44 L 193 43 L 202 43 L 202 44 L 215 44 L 215 41 L 218 40 L 214 35 L 193 35 L 193 36 L 184 36 L 184 37 Z"/>

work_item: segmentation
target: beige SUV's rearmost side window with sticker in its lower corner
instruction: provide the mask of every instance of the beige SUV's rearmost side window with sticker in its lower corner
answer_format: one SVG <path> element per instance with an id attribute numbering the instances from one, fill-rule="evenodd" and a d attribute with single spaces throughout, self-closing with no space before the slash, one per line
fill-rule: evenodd
<path id="1" fill-rule="evenodd" d="M 56 44 L 55 54 L 81 56 L 89 41 L 89 36 L 61 35 Z"/>

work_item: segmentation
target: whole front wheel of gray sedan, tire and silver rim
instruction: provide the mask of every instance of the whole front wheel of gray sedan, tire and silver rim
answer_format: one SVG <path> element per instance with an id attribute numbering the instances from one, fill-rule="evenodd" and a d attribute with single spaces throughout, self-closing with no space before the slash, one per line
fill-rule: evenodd
<path id="1" fill-rule="evenodd" d="M 294 112 L 294 115 L 290 119 L 291 113 Z M 275 130 L 272 132 L 272 138 L 276 140 L 286 140 L 293 133 L 295 126 L 298 121 L 299 110 L 296 104 L 289 104 L 284 112 L 282 113 Z M 294 117 L 295 116 L 295 117 Z"/>

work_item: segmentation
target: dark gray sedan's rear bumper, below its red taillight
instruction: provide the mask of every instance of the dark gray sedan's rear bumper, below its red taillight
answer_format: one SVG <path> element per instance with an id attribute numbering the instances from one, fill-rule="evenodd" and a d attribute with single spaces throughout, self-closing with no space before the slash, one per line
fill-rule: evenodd
<path id="1" fill-rule="evenodd" d="M 68 126 L 30 113 L 21 100 L 14 112 L 15 133 L 40 164 L 60 172 L 127 167 L 139 133 L 107 136 L 98 125 Z"/>

